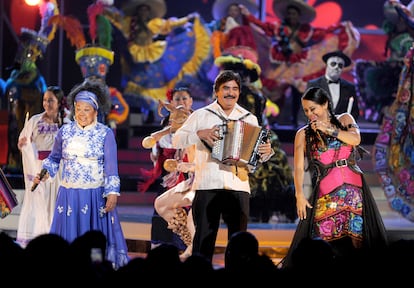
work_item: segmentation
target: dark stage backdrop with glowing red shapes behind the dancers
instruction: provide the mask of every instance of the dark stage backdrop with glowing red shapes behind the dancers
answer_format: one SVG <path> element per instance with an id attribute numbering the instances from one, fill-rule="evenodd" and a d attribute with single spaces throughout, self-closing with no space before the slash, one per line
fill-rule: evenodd
<path id="1" fill-rule="evenodd" d="M 115 0 L 115 5 L 120 6 L 125 0 Z M 66 15 L 74 15 L 79 18 L 86 26 L 88 24 L 86 9 L 87 6 L 93 3 L 92 0 L 57 0 L 59 4 L 64 4 L 64 13 Z M 401 0 L 403 4 L 407 4 L 407 0 Z M 12 24 L 15 29 L 15 34 L 20 34 L 22 25 L 38 26 L 40 23 L 40 16 L 36 9 L 21 9 L 23 0 L 5 0 L 4 12 L 8 19 L 12 19 Z M 166 0 L 167 14 L 166 17 L 181 17 L 191 12 L 198 12 L 207 22 L 213 20 L 211 14 L 211 7 L 214 0 Z M 274 21 L 275 15 L 271 9 L 272 0 L 257 0 L 257 3 L 262 7 L 262 19 L 266 21 Z M 315 7 L 317 17 L 312 23 L 315 26 L 326 26 L 337 21 L 351 21 L 354 26 L 361 31 L 361 45 L 354 53 L 354 59 L 366 59 L 381 61 L 385 59 L 383 55 L 385 37 L 380 30 L 383 16 L 382 0 L 308 0 L 308 3 Z M 62 8 L 62 7 L 61 7 Z M 26 12 L 25 12 L 26 11 Z M 369 11 L 369 13 L 367 12 Z M 28 15 L 22 15 L 27 13 Z M 37 14 L 37 21 L 33 20 L 33 14 Z M 21 22 L 20 20 L 30 19 L 30 21 Z M 10 73 L 8 67 L 11 67 L 14 62 L 16 51 L 15 38 L 8 31 L 8 26 L 4 27 L 3 39 L 3 65 L 2 77 L 7 79 Z M 38 27 L 28 27 L 38 29 Z M 6 44 L 7 43 L 7 44 Z M 113 48 L 116 52 L 116 43 Z M 59 65 L 59 51 L 63 49 L 61 58 L 62 64 Z M 118 57 L 115 56 L 115 63 L 111 66 L 110 72 L 107 76 L 108 84 L 111 86 L 119 86 L 120 84 L 120 65 L 117 62 Z M 75 62 L 75 51 L 70 45 L 66 36 L 63 37 L 62 45 L 59 43 L 59 36 L 57 35 L 53 43 L 48 46 L 44 59 L 40 59 L 38 63 L 39 69 L 44 75 L 47 83 L 51 85 L 58 84 L 58 69 L 62 69 L 61 80 L 62 87 L 65 91 L 77 82 L 82 81 L 79 66 Z"/>

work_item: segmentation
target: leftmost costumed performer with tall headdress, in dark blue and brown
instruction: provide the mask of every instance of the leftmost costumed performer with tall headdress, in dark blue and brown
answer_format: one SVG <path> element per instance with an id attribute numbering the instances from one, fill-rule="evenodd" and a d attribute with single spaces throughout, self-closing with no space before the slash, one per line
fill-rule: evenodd
<path id="1" fill-rule="evenodd" d="M 44 77 L 37 68 L 36 61 L 46 53 L 48 44 L 54 39 L 56 26 L 49 19 L 59 14 L 55 0 L 43 1 L 39 4 L 41 26 L 39 31 L 23 27 L 15 63 L 10 77 L 5 83 L 5 94 L 2 107 L 9 111 L 8 139 L 4 149 L 8 151 L 5 172 L 21 172 L 21 155 L 17 148 L 17 139 L 23 129 L 26 117 L 29 118 L 43 111 L 42 99 L 47 85 Z M 5 98 L 4 97 L 4 98 Z M 7 170 L 7 171 L 6 171 Z"/>

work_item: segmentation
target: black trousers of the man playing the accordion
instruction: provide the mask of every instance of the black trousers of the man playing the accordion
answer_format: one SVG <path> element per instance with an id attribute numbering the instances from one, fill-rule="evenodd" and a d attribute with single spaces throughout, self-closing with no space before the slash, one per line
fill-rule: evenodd
<path id="1" fill-rule="evenodd" d="M 217 189 L 197 190 L 193 204 L 195 235 L 193 254 L 213 260 L 221 218 L 227 225 L 228 239 L 247 230 L 250 194 L 242 191 Z"/>

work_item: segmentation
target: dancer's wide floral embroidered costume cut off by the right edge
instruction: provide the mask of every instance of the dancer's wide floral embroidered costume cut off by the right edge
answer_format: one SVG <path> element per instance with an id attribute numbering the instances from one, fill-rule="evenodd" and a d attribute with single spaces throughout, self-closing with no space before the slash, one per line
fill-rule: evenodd
<path id="1" fill-rule="evenodd" d="M 399 1 L 390 1 L 414 36 L 414 17 Z M 414 222 L 414 46 L 404 57 L 395 100 L 387 107 L 374 146 L 374 168 L 388 204 Z"/>

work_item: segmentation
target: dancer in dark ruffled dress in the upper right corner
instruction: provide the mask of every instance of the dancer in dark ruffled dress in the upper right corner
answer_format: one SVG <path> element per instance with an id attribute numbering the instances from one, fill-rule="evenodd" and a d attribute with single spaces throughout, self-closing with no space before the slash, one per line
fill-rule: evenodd
<path id="1" fill-rule="evenodd" d="M 384 47 L 385 61 L 358 59 L 354 69 L 361 116 L 369 122 L 379 124 L 396 98 L 399 77 L 405 65 L 404 57 L 414 40 L 412 28 L 404 17 L 398 14 L 395 5 L 400 6 L 411 17 L 414 13 L 414 1 L 407 5 L 400 1 L 384 1 L 384 21 L 381 28 L 387 36 Z"/>

